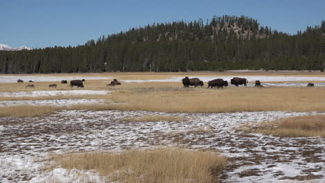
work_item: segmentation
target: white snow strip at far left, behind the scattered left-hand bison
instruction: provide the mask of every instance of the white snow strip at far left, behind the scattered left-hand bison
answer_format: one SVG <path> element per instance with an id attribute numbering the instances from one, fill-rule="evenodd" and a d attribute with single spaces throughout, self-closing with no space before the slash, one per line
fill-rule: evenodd
<path id="1" fill-rule="evenodd" d="M 61 80 L 82 80 L 85 79 L 85 82 L 87 80 L 112 80 L 113 78 L 110 77 L 86 77 L 82 78 L 80 77 L 54 77 L 54 76 L 0 76 L 0 83 L 3 82 L 17 82 L 17 80 L 23 80 L 24 82 L 28 82 L 29 80 L 33 80 L 33 82 L 49 82 L 49 81 L 61 81 Z"/>

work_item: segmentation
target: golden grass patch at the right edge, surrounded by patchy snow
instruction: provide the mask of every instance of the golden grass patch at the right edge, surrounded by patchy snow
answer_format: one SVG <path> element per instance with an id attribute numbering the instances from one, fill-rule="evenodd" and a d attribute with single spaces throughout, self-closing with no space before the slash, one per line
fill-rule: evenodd
<path id="1" fill-rule="evenodd" d="M 322 137 L 325 138 L 325 115 L 296 116 L 278 121 L 261 123 L 254 132 L 277 137 Z"/>

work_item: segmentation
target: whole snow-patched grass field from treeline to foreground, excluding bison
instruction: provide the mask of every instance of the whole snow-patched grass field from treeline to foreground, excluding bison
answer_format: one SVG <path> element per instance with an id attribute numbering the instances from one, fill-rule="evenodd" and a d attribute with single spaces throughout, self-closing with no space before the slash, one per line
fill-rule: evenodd
<path id="1" fill-rule="evenodd" d="M 0 182 L 325 181 L 324 73 L 1 76 Z M 184 76 L 257 76 L 265 87 L 184 89 Z M 107 87 L 113 78 L 122 85 Z"/>

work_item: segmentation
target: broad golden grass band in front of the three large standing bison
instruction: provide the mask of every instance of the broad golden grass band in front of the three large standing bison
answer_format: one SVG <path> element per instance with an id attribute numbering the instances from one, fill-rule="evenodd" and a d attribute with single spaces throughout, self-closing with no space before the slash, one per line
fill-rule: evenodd
<path id="1" fill-rule="evenodd" d="M 121 89 L 108 96 L 113 110 L 155 112 L 325 111 L 324 88 L 176 88 Z"/>

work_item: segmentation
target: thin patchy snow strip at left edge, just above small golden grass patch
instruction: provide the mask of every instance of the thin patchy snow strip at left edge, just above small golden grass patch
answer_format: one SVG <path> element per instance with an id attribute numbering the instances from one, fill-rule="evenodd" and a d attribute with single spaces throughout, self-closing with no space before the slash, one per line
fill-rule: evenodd
<path id="1" fill-rule="evenodd" d="M 105 100 L 101 99 L 85 99 L 85 98 L 69 98 L 56 100 L 34 100 L 34 101 L 0 101 L 0 107 L 10 105 L 78 105 L 78 104 L 103 104 Z"/>

